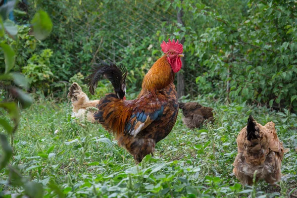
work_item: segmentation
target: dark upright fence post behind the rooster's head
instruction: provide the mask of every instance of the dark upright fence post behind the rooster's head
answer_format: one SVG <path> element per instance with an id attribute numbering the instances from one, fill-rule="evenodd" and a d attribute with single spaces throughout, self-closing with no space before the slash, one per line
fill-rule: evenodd
<path id="1" fill-rule="evenodd" d="M 181 0 L 181 3 L 183 3 L 183 0 Z M 178 8 L 177 8 L 178 9 Z M 182 27 L 184 27 L 184 23 L 182 20 L 183 17 L 183 8 L 181 7 L 180 10 L 177 10 L 177 22 L 182 24 Z M 185 39 L 183 38 L 180 43 L 184 44 Z M 182 58 L 182 68 L 185 67 L 185 58 Z M 177 73 L 177 94 L 178 98 L 181 98 L 182 96 L 185 95 L 185 81 L 184 81 L 184 74 L 183 72 L 178 72 Z"/>

